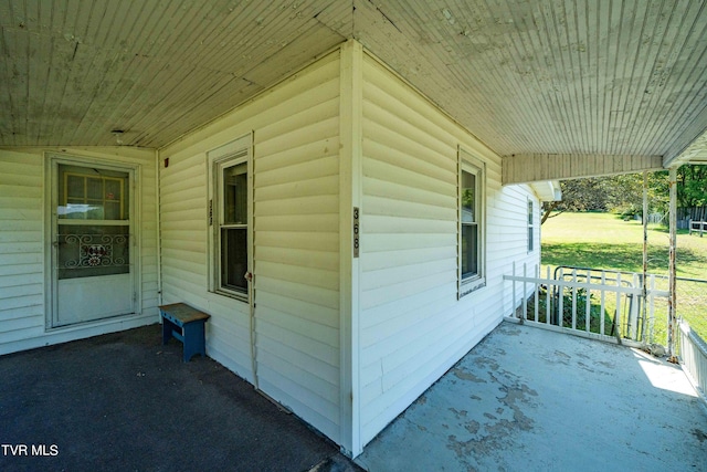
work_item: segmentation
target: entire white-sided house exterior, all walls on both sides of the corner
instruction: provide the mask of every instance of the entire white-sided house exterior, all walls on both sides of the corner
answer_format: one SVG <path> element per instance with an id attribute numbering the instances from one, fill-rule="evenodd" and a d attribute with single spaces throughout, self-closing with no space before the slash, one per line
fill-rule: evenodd
<path id="1" fill-rule="evenodd" d="M 209 153 L 244 136 L 252 304 L 210 282 Z M 485 166 L 486 285 L 457 300 L 460 149 Z M 140 162 L 144 313 L 156 321 L 160 302 L 186 302 L 211 314 L 212 358 L 354 455 L 511 312 L 503 274 L 513 263 L 539 261 L 537 214 L 527 248 L 532 191 L 502 187 L 497 155 L 356 42 L 159 150 L 157 162 L 125 153 L 88 155 Z M 0 222 L 12 228 L 0 232 L 0 343 L 45 343 L 43 159 L 0 151 Z"/>

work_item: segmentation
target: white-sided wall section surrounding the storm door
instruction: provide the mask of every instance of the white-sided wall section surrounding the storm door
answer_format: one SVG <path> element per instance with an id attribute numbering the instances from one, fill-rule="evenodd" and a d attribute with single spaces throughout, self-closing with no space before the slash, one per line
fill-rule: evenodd
<path id="1" fill-rule="evenodd" d="M 49 329 L 48 153 L 137 166 L 140 201 L 139 313 Z M 0 354 L 158 321 L 155 151 L 131 148 L 0 149 Z"/>

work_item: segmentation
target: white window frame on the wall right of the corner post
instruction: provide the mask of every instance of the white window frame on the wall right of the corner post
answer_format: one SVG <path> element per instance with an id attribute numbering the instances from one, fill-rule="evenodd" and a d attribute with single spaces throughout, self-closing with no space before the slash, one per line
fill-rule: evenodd
<path id="1" fill-rule="evenodd" d="M 457 281 L 458 298 L 486 286 L 486 164 L 471 153 L 458 149 L 457 162 Z M 475 274 L 464 276 L 462 273 L 462 176 L 468 172 L 475 176 L 474 212 L 477 234 L 478 268 Z"/>

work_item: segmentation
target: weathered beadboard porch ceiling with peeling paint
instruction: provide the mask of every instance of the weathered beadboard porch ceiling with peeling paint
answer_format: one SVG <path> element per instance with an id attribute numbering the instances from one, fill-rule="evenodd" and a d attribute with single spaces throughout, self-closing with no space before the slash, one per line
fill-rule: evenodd
<path id="1" fill-rule="evenodd" d="M 0 146 L 159 148 L 354 38 L 502 156 L 699 160 L 706 3 L 0 0 Z"/>

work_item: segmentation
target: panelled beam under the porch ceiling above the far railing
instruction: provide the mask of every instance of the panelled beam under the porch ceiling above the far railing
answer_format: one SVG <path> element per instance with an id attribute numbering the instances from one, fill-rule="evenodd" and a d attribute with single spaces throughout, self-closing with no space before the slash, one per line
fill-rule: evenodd
<path id="1" fill-rule="evenodd" d="M 503 158 L 503 185 L 662 169 L 662 156 L 515 154 Z"/>

